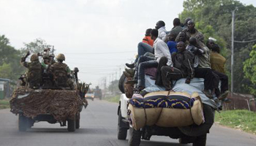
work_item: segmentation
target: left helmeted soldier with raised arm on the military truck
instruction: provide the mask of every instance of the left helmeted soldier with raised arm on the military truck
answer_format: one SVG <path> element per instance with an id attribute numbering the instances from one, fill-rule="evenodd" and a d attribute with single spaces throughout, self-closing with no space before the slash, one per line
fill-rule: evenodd
<path id="1" fill-rule="evenodd" d="M 26 58 L 30 53 L 26 53 L 26 56 L 21 58 L 20 64 L 29 69 L 26 72 L 26 83 L 29 85 L 29 88 L 39 88 L 42 81 L 42 65 L 38 60 L 37 54 L 31 55 L 31 62 L 26 62 Z"/>

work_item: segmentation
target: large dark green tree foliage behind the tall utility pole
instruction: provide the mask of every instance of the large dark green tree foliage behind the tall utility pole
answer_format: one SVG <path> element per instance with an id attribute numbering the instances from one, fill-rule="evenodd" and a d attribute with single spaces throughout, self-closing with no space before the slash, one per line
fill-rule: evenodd
<path id="1" fill-rule="evenodd" d="M 179 18 L 195 20 L 196 28 L 205 38 L 214 37 L 222 48 L 222 55 L 227 58 L 226 70 L 230 74 L 230 48 L 232 12 L 236 9 L 235 34 L 238 41 L 256 39 L 256 8 L 245 6 L 236 0 L 186 0 L 184 11 Z M 249 58 L 253 43 L 235 43 L 234 47 L 234 92 L 247 93 L 252 82 L 244 78 L 241 72 L 243 62 Z"/>

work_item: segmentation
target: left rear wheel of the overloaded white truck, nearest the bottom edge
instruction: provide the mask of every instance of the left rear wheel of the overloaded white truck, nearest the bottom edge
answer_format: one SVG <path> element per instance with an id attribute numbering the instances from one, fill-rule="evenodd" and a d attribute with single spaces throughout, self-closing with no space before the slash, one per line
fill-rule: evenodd
<path id="1" fill-rule="evenodd" d="M 141 138 L 141 131 L 135 130 L 135 128 L 129 128 L 129 146 L 139 146 Z"/>

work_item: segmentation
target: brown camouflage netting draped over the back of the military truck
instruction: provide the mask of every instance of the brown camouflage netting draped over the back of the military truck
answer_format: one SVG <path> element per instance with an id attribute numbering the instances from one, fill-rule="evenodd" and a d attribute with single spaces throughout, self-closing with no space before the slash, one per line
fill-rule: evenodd
<path id="1" fill-rule="evenodd" d="M 11 112 L 18 114 L 23 112 L 28 118 L 34 118 L 41 114 L 51 114 L 57 121 L 74 119 L 79 112 L 83 100 L 79 91 L 75 90 L 50 90 L 30 89 L 18 87 L 10 100 Z"/>

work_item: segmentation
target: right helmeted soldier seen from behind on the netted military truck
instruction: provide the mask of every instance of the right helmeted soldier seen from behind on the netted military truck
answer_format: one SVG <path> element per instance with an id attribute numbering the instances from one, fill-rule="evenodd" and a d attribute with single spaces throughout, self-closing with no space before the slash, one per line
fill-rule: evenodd
<path id="1" fill-rule="evenodd" d="M 70 69 L 67 64 L 64 64 L 65 55 L 59 54 L 56 57 L 57 63 L 50 66 L 50 73 L 53 75 L 53 81 L 59 88 L 71 88 L 74 89 L 74 82 L 70 78 Z"/>

